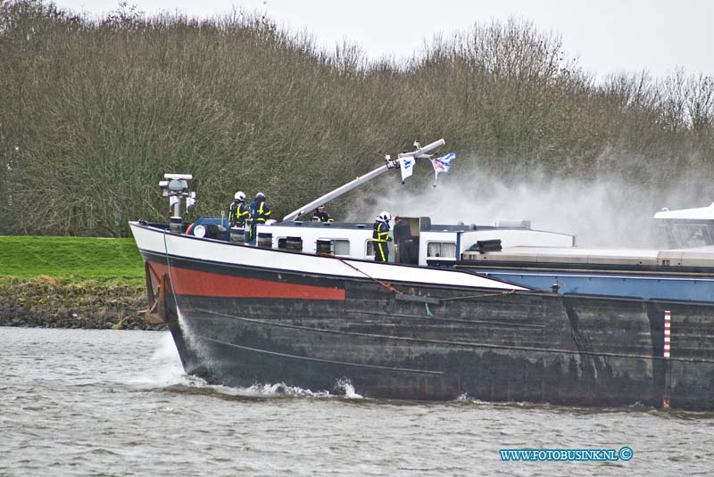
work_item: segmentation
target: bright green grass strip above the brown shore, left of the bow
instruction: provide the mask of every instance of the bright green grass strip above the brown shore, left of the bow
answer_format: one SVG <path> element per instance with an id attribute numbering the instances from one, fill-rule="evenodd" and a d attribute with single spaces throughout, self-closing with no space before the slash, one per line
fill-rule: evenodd
<path id="1" fill-rule="evenodd" d="M 0 277 L 38 276 L 142 284 L 144 263 L 132 238 L 0 235 Z"/>

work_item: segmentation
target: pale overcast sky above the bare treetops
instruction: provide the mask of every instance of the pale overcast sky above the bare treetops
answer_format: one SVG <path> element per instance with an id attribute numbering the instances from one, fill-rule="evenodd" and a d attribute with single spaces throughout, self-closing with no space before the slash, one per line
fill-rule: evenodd
<path id="1" fill-rule="evenodd" d="M 55 0 L 100 15 L 119 0 Z M 347 40 L 370 58 L 419 53 L 424 40 L 474 23 L 515 17 L 562 37 L 570 57 L 599 77 L 648 70 L 664 77 L 677 68 L 714 76 L 714 1 L 710 0 L 128 0 L 147 14 L 169 11 L 211 17 L 237 10 L 267 12 L 292 31 L 307 30 L 320 45 Z"/>

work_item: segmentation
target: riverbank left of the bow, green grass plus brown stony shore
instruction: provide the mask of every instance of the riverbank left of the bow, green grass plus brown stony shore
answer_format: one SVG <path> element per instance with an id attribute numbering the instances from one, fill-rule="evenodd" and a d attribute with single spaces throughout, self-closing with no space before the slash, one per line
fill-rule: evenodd
<path id="1" fill-rule="evenodd" d="M 133 239 L 0 236 L 0 325 L 145 328 Z"/>

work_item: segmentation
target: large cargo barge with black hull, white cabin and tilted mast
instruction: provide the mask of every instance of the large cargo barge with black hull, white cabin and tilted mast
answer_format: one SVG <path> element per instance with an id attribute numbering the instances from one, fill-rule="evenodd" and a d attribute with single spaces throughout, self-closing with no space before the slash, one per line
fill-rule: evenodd
<path id="1" fill-rule="evenodd" d="M 386 156 L 282 222 L 257 226 L 255 244 L 222 222 L 187 234 L 179 211 L 192 177 L 166 175 L 164 194 L 178 198 L 170 224 L 130 223 L 147 319 L 168 325 L 188 374 L 228 386 L 335 391 L 349 382 L 376 399 L 714 409 L 709 301 L 541 289 L 476 267 L 486 261 L 479 254 L 505 255 L 504 245 L 573 249 L 572 235 L 526 221 L 408 218 L 416 263 L 380 263 L 371 222 L 296 220 L 443 144 Z"/>

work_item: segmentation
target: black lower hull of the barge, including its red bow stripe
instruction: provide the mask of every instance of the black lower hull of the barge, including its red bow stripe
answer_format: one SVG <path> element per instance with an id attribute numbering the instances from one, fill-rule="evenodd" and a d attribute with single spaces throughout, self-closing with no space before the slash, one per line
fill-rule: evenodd
<path id="1" fill-rule="evenodd" d="M 212 383 L 334 391 L 346 380 L 379 399 L 714 409 L 707 304 L 142 255 L 187 373 Z"/>

